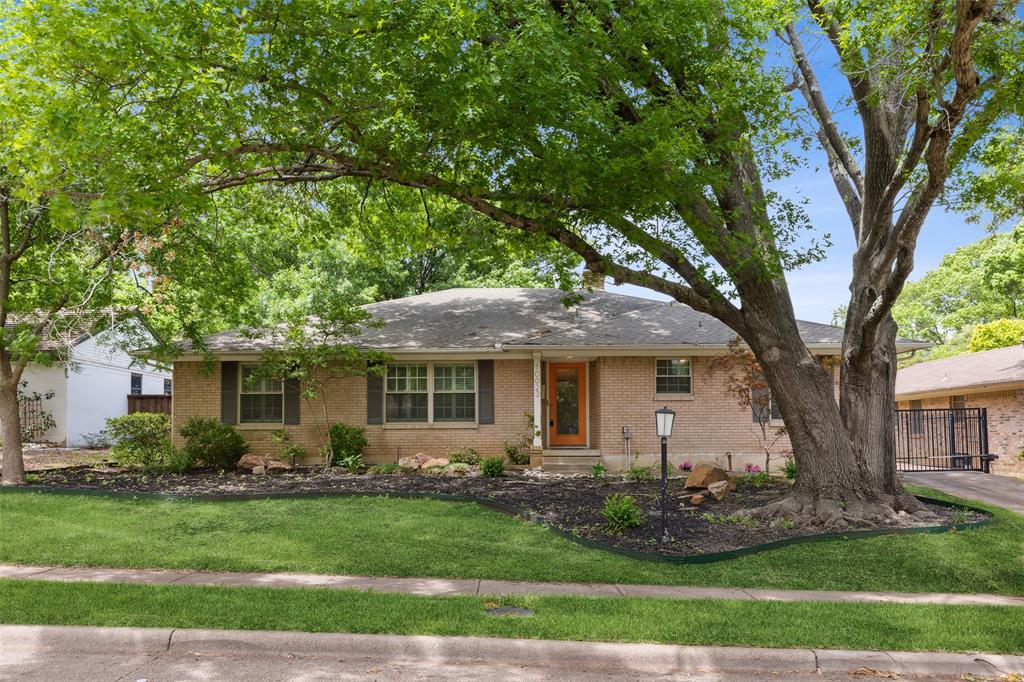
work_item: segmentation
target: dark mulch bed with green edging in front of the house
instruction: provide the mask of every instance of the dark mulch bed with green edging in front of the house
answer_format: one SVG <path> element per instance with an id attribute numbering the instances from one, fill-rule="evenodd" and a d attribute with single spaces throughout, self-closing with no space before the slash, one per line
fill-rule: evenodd
<path id="1" fill-rule="evenodd" d="M 327 473 L 321 469 L 295 469 L 278 475 L 253 475 L 238 471 L 194 471 L 186 474 L 142 473 L 112 465 L 84 466 L 40 471 L 34 482 L 72 489 L 92 489 L 121 493 L 161 493 L 177 496 L 258 495 L 262 493 L 360 493 L 380 495 L 432 494 L 469 496 L 493 500 L 512 506 L 535 520 L 558 527 L 573 536 L 613 545 L 623 549 L 691 556 L 726 552 L 782 540 L 823 532 L 822 528 L 784 528 L 764 523 L 753 524 L 736 515 L 745 509 L 767 504 L 787 488 L 782 480 L 772 481 L 761 488 L 739 481 L 736 493 L 725 500 L 713 497 L 698 507 L 688 504 L 683 478 L 669 480 L 668 527 L 671 542 L 660 543 L 660 482 L 625 481 L 608 476 L 538 476 L 512 472 L 502 478 L 478 475 L 450 477 L 425 473 L 392 475 L 352 475 L 335 468 Z M 633 496 L 643 512 L 645 522 L 622 535 L 604 529 L 601 510 L 604 499 L 612 493 Z M 983 515 L 948 507 L 928 505 L 937 517 L 929 520 L 905 516 L 902 527 L 934 526 L 969 523 Z M 954 518 L 954 512 L 957 516 Z"/>

